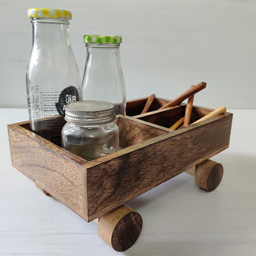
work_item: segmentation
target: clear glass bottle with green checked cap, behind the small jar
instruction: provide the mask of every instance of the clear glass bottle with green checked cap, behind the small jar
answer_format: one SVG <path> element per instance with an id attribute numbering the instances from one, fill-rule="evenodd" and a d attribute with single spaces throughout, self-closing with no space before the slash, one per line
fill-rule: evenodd
<path id="1" fill-rule="evenodd" d="M 82 79 L 82 100 L 103 100 L 114 104 L 116 115 L 125 117 L 126 92 L 120 61 L 118 35 L 84 35 L 87 48 Z M 118 120 L 120 146 L 125 147 L 124 118 Z"/>

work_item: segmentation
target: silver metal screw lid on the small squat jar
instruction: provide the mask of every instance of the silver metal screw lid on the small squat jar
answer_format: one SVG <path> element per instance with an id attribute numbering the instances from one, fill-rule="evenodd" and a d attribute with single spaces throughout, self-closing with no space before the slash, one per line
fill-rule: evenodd
<path id="1" fill-rule="evenodd" d="M 65 120 L 76 124 L 104 124 L 116 118 L 114 105 L 106 101 L 75 101 L 66 105 L 65 109 Z"/>

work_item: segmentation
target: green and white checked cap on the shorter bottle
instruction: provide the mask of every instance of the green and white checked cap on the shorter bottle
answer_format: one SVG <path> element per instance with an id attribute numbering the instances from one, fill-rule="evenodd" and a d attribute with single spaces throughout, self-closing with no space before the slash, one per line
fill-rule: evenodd
<path id="1" fill-rule="evenodd" d="M 122 44 L 120 35 L 84 35 L 83 42 L 85 44 Z"/>

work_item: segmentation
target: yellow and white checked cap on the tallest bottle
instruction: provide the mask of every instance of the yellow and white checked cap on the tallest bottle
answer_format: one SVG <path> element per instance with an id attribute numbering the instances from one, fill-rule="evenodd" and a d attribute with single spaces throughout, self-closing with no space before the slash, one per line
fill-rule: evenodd
<path id="1" fill-rule="evenodd" d="M 67 10 L 48 8 L 29 8 L 29 18 L 67 18 L 72 19 L 72 13 Z"/>

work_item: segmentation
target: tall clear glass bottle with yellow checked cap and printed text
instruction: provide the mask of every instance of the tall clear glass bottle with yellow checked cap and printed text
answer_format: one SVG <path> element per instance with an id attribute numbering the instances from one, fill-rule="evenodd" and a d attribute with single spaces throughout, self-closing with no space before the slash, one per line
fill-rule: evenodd
<path id="1" fill-rule="evenodd" d="M 32 51 L 26 74 L 30 128 L 60 145 L 65 105 L 80 99 L 80 74 L 70 45 L 70 11 L 31 8 Z"/>

